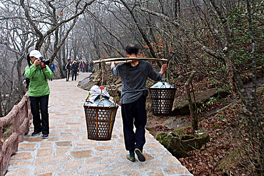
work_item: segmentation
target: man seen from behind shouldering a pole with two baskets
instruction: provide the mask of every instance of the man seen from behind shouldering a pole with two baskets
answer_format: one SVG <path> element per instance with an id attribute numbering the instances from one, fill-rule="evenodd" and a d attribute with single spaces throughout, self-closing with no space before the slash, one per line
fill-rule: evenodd
<path id="1" fill-rule="evenodd" d="M 139 47 L 130 44 L 126 47 L 128 57 L 137 57 Z M 120 63 L 117 66 L 111 62 L 111 72 L 122 79 L 121 113 L 123 119 L 123 131 L 126 150 L 129 151 L 127 159 L 134 162 L 135 153 L 139 161 L 145 161 L 143 146 L 146 143 L 145 125 L 147 123 L 146 80 L 151 78 L 158 81 L 162 78 L 167 64 L 161 66 L 160 72 L 156 72 L 151 64 L 145 60 L 136 60 L 130 63 Z M 133 125 L 136 132 L 133 131 Z"/>

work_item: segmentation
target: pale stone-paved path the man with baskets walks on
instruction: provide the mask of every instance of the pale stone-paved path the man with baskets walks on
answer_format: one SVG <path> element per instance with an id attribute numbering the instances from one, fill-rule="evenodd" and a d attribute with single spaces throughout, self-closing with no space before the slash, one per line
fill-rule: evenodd
<path id="1" fill-rule="evenodd" d="M 80 73 L 79 80 L 89 75 Z M 31 136 L 33 127 L 10 160 L 6 175 L 192 175 L 146 132 L 145 162 L 126 159 L 120 107 L 112 139 L 87 139 L 83 103 L 87 91 L 78 81 L 49 81 L 50 136 Z"/>

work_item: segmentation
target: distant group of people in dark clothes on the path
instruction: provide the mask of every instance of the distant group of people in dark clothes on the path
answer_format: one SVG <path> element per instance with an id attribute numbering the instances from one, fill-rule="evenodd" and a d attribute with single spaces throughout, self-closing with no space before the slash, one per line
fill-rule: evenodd
<path id="1" fill-rule="evenodd" d="M 88 68 L 89 68 L 88 62 L 83 62 L 82 60 L 71 61 L 71 59 L 68 59 L 68 62 L 65 65 L 63 65 L 63 70 L 66 70 L 66 73 L 67 73 L 66 81 L 69 81 L 70 73 L 71 73 L 71 80 L 73 80 L 73 77 L 74 77 L 74 80 L 76 80 L 77 72 L 89 72 Z M 94 63 L 91 62 L 90 72 L 93 72 L 93 68 L 94 68 Z"/>

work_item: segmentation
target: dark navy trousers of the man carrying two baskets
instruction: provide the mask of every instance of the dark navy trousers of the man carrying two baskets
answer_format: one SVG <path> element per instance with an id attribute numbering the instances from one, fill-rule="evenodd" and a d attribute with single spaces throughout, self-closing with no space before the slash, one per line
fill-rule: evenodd
<path id="1" fill-rule="evenodd" d="M 126 150 L 134 151 L 135 148 L 143 150 L 146 143 L 145 125 L 147 123 L 146 98 L 141 96 L 137 101 L 121 104 L 123 131 Z M 133 124 L 136 132 L 133 131 Z"/>

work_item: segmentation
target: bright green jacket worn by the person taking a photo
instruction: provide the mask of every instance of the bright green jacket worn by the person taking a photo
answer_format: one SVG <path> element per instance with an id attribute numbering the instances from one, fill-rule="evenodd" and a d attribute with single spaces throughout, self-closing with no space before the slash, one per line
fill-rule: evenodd
<path id="1" fill-rule="evenodd" d="M 46 75 L 46 78 L 45 78 Z M 33 64 L 25 68 L 25 77 L 30 79 L 29 83 L 29 96 L 41 97 L 50 94 L 49 84 L 46 79 L 51 79 L 53 73 L 47 66 L 46 69 L 39 69 L 38 66 Z"/>

